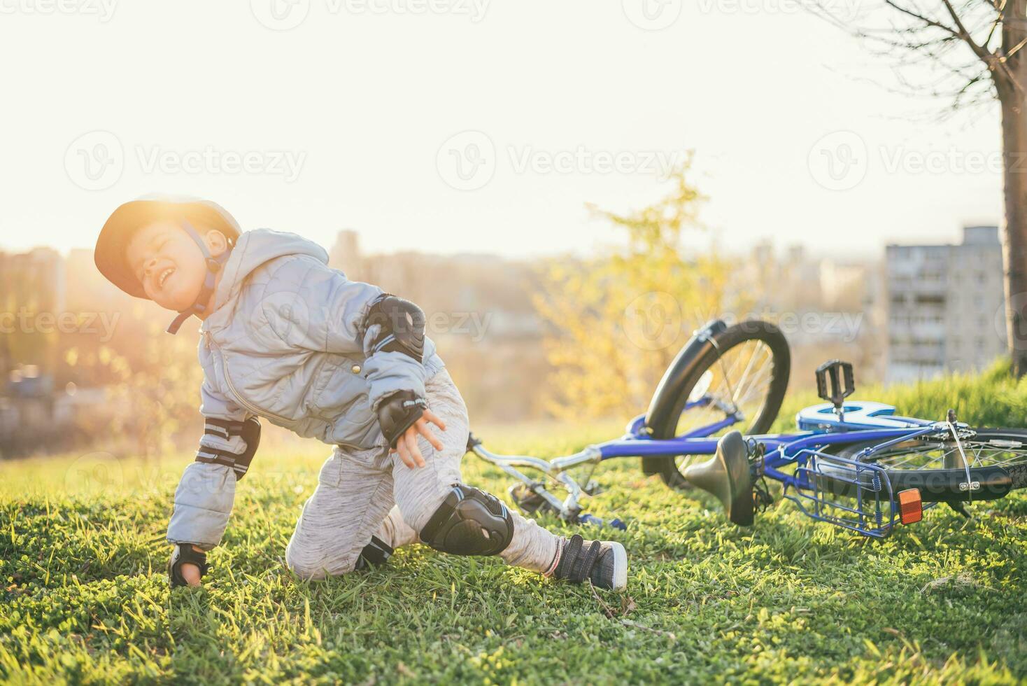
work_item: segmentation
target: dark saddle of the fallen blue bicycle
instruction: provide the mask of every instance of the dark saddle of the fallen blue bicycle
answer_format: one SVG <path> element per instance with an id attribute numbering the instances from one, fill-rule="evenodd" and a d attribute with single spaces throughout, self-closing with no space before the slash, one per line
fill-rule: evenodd
<path id="1" fill-rule="evenodd" d="M 753 478 L 749 449 L 740 431 L 731 431 L 721 439 L 716 455 L 706 462 L 687 466 L 685 479 L 717 496 L 731 522 L 743 527 L 752 525 Z"/>

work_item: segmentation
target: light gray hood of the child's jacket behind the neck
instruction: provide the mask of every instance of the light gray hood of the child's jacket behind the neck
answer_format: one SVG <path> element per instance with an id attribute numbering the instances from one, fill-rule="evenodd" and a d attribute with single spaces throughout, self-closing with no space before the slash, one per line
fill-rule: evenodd
<path id="1" fill-rule="evenodd" d="M 321 264 L 328 264 L 328 252 L 303 236 L 271 229 L 244 231 L 225 263 L 224 274 L 214 292 L 214 312 L 207 319 L 215 317 L 223 305 L 238 296 L 242 283 L 255 270 L 272 260 L 291 255 L 312 257 Z"/>

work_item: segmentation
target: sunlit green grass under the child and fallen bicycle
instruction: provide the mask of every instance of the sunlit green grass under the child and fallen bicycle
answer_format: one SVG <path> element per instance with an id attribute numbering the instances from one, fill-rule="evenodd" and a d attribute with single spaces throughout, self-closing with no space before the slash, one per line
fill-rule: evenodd
<path id="1" fill-rule="evenodd" d="M 1027 385 L 999 371 L 888 393 L 907 413 L 954 406 L 1027 424 Z M 793 397 L 781 426 L 808 397 Z M 551 456 L 618 425 L 481 431 Z M 1027 678 L 1027 497 L 937 508 L 883 542 L 776 503 L 751 530 L 635 461 L 603 472 L 620 517 L 624 594 L 544 581 L 495 560 L 400 550 L 319 583 L 282 563 L 327 451 L 269 449 L 239 489 L 201 589 L 170 592 L 161 542 L 191 459 L 104 454 L 0 465 L 0 680 L 11 683 L 1016 683 Z M 465 477 L 503 493 L 473 457 Z M 561 533 L 571 528 L 543 523 Z M 595 532 L 595 530 L 592 530 Z"/>

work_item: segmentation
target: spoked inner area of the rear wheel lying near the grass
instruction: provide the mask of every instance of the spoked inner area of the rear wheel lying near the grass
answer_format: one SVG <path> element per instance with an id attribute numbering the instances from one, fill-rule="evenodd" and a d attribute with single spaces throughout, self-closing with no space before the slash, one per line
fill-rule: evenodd
<path id="1" fill-rule="evenodd" d="M 919 446 L 908 444 L 873 453 L 865 462 L 874 462 L 888 469 L 961 469 L 963 467 L 1010 467 L 1027 462 L 1027 436 L 999 435 L 988 439 L 965 439 L 962 452 L 955 442 L 929 441 Z M 962 455 L 966 460 L 963 461 Z"/>

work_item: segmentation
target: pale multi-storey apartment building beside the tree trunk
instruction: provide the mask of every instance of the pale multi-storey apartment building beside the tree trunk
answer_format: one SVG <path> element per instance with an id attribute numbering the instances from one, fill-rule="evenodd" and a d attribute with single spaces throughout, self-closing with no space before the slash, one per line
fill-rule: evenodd
<path id="1" fill-rule="evenodd" d="M 888 382 L 981 369 L 1005 353 L 998 227 L 964 227 L 958 245 L 888 245 L 886 263 Z"/>

